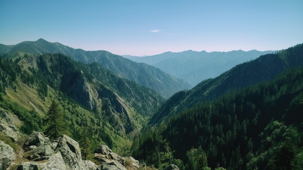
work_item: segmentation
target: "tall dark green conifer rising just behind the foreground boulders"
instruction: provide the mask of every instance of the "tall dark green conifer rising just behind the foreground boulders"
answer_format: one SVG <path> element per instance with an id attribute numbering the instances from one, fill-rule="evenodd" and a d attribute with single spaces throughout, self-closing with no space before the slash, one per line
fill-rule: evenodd
<path id="1" fill-rule="evenodd" d="M 69 135 L 69 127 L 64 119 L 63 108 L 58 101 L 53 100 L 45 119 L 45 135 L 56 139 L 62 134 Z"/>

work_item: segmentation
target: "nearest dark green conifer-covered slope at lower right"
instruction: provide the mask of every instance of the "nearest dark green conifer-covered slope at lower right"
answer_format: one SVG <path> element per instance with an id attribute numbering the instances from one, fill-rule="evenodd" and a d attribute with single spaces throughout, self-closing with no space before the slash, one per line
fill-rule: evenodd
<path id="1" fill-rule="evenodd" d="M 301 66 L 183 110 L 139 135 L 133 156 L 181 170 L 300 170 L 302 110 Z"/>

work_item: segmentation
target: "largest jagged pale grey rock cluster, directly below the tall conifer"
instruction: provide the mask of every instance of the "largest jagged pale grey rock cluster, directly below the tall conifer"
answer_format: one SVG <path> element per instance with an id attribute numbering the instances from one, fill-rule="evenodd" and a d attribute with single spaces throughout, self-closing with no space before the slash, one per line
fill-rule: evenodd
<path id="1" fill-rule="evenodd" d="M 62 135 L 51 143 L 42 132 L 33 132 L 23 147 L 30 162 L 21 163 L 18 170 L 97 169 L 97 165 L 93 162 L 82 160 L 79 143 L 66 135 Z M 47 161 L 41 161 L 45 159 Z"/>

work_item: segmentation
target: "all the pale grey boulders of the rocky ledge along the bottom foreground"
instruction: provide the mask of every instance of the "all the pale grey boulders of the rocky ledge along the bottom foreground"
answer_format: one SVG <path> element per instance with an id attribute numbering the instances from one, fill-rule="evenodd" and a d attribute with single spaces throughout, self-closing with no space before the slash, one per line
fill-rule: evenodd
<path id="1" fill-rule="evenodd" d="M 42 132 L 33 132 L 23 145 L 24 162 L 17 170 L 138 170 L 139 161 L 131 156 L 115 154 L 106 145 L 95 149 L 96 165 L 90 160 L 82 160 L 79 143 L 62 135 L 53 142 Z M 10 170 L 15 163 L 13 148 L 0 140 L 0 169 Z M 125 161 L 127 160 L 127 161 Z M 164 170 L 179 170 L 176 165 L 169 165 Z"/>

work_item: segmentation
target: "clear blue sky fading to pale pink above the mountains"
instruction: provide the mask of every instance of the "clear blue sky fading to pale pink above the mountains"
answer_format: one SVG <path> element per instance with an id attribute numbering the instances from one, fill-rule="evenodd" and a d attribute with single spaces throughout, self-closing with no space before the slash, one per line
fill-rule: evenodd
<path id="1" fill-rule="evenodd" d="M 0 44 L 154 55 L 303 43 L 303 0 L 0 0 Z"/>

